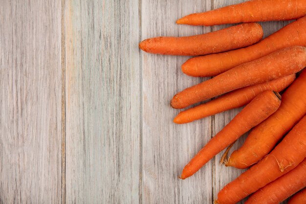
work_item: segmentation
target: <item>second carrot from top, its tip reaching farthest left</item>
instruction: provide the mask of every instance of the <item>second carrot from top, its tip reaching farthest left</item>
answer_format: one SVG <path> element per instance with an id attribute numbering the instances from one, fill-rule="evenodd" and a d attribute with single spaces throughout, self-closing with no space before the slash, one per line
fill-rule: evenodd
<path id="1" fill-rule="evenodd" d="M 142 41 L 139 47 L 154 54 L 195 56 L 253 45 L 260 41 L 262 36 L 260 24 L 243 23 L 202 35 L 150 38 Z"/>

